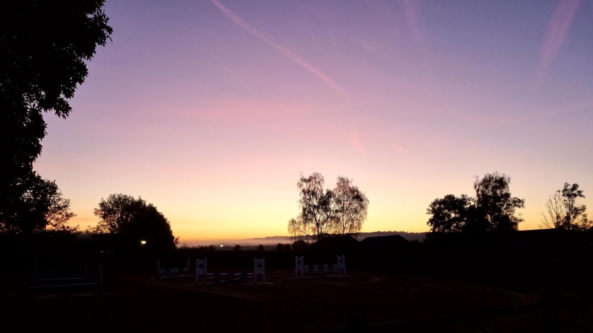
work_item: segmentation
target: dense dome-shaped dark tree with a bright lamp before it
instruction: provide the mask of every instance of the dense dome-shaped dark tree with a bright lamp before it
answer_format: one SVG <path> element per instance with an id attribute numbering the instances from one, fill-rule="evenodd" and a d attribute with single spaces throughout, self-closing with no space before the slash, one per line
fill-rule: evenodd
<path id="1" fill-rule="evenodd" d="M 124 246 L 145 240 L 148 247 L 166 249 L 174 248 L 179 241 L 165 216 L 140 197 L 110 194 L 107 199 L 101 198 L 94 214 L 100 220 L 92 230 L 117 235 Z"/>

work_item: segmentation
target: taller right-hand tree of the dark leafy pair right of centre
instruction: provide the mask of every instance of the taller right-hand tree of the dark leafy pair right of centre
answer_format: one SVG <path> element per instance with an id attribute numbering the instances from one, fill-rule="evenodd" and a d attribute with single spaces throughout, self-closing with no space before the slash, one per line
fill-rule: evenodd
<path id="1" fill-rule="evenodd" d="M 512 197 L 509 186 L 511 177 L 495 171 L 476 176 L 476 207 L 484 214 L 487 230 L 517 230 L 522 218 L 515 216 L 515 210 L 525 207 L 525 199 Z"/>

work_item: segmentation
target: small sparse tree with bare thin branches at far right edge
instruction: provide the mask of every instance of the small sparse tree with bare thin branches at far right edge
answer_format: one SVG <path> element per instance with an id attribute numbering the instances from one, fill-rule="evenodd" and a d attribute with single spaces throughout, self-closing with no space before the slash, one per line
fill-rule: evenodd
<path id="1" fill-rule="evenodd" d="M 546 213 L 542 216 L 540 227 L 564 230 L 587 230 L 593 227 L 593 220 L 589 220 L 585 213 L 587 206 L 579 203 L 585 198 L 579 184 L 564 183 L 562 190 L 557 190 L 546 202 Z"/>

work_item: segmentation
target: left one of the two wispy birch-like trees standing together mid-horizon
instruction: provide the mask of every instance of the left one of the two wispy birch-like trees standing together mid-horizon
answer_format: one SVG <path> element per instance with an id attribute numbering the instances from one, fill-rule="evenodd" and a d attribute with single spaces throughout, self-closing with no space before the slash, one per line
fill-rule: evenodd
<path id="1" fill-rule="evenodd" d="M 331 209 L 331 190 L 323 190 L 324 179 L 318 172 L 309 177 L 301 174 L 297 187 L 301 191 L 299 206 L 301 213 L 297 219 L 288 222 L 288 232 L 291 236 L 307 236 L 315 241 L 320 240 L 331 232 L 334 219 Z"/>

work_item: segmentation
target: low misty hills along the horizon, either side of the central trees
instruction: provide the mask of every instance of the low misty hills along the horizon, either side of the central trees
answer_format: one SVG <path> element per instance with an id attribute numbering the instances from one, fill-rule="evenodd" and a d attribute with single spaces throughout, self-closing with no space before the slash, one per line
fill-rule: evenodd
<path id="1" fill-rule="evenodd" d="M 362 241 L 366 237 L 374 236 L 388 236 L 388 235 L 400 235 L 408 241 L 419 241 L 422 242 L 426 238 L 426 232 L 406 232 L 406 231 L 373 231 L 373 232 L 361 232 L 356 239 Z M 257 246 L 262 245 L 276 245 L 278 243 L 286 244 L 292 243 L 294 239 L 290 236 L 267 236 L 257 238 L 246 238 L 246 239 L 212 239 L 208 241 L 201 240 L 188 240 L 181 242 L 180 245 L 185 246 L 196 246 L 196 245 L 223 245 L 233 246 L 239 244 L 241 246 Z"/>

